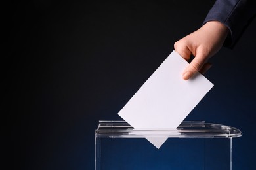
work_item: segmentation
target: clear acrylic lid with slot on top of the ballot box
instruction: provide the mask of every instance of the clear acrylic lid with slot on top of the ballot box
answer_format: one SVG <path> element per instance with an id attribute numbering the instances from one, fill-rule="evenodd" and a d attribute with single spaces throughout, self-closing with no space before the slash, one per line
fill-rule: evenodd
<path id="1" fill-rule="evenodd" d="M 112 138 L 232 138 L 242 132 L 234 127 L 202 122 L 182 122 L 177 129 L 134 129 L 125 121 L 100 120 L 95 130 L 96 137 Z"/>

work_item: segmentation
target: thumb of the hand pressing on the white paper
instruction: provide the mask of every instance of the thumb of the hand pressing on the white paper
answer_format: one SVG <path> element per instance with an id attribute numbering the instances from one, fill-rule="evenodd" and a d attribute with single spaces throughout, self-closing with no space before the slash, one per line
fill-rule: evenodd
<path id="1" fill-rule="evenodd" d="M 203 64 L 206 61 L 206 57 L 202 54 L 196 55 L 196 57 L 191 61 L 191 63 L 186 67 L 182 74 L 182 78 L 184 80 L 188 80 L 191 78 L 194 74 L 196 74 L 200 69 L 202 69 Z"/>

